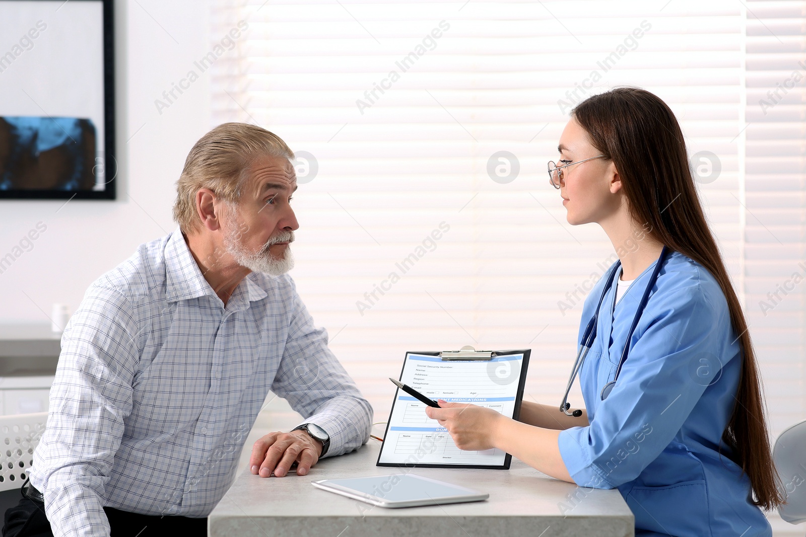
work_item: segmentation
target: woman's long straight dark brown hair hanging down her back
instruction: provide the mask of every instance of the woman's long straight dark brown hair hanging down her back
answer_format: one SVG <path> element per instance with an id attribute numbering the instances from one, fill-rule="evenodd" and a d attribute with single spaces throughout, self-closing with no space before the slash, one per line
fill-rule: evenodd
<path id="1" fill-rule="evenodd" d="M 784 502 L 772 461 L 758 366 L 742 307 L 717 242 L 705 221 L 675 114 L 644 89 L 617 88 L 588 97 L 571 116 L 597 150 L 613 163 L 631 216 L 651 226 L 669 249 L 704 266 L 728 301 L 730 321 L 742 345 L 742 368 L 733 414 L 722 433 L 752 485 L 754 504 L 770 510 Z"/>

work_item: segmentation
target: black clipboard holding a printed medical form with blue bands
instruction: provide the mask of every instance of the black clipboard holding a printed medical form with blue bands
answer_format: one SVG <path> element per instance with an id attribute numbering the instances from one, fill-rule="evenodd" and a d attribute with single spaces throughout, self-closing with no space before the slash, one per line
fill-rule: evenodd
<path id="1" fill-rule="evenodd" d="M 531 349 L 406 353 L 403 382 L 430 399 L 472 403 L 518 419 Z M 376 466 L 509 469 L 512 455 L 456 448 L 447 429 L 425 415 L 425 404 L 397 389 Z"/>

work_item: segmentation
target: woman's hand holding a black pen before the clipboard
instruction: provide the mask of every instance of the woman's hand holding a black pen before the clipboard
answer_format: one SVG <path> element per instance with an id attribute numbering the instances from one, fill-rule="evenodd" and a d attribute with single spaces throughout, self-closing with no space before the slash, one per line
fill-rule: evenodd
<path id="1" fill-rule="evenodd" d="M 459 449 L 476 451 L 495 448 L 497 429 L 503 415 L 490 409 L 464 403 L 437 401 L 439 408 L 426 407 L 426 415 L 436 419 L 451 433 Z"/>

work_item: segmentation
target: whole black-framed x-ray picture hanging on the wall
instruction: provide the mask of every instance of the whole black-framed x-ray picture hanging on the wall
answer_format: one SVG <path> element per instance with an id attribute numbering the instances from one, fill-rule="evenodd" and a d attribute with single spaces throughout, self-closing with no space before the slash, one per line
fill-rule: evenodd
<path id="1" fill-rule="evenodd" d="M 113 200 L 112 0 L 0 0 L 0 198 Z"/>

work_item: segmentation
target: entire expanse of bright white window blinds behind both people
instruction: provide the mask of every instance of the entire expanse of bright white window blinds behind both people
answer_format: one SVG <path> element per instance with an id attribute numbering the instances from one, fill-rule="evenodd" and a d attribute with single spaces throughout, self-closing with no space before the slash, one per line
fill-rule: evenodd
<path id="1" fill-rule="evenodd" d="M 804 3 L 214 0 L 214 43 L 248 26 L 211 68 L 214 124 L 256 123 L 300 154 L 293 277 L 380 420 L 405 351 L 462 345 L 533 349 L 526 399 L 559 405 L 613 246 L 567 224 L 546 161 L 584 97 L 657 93 L 777 432 L 804 416 L 806 283 L 766 316 L 758 301 L 804 259 L 803 86 L 767 114 L 757 101 L 798 68 Z"/>

